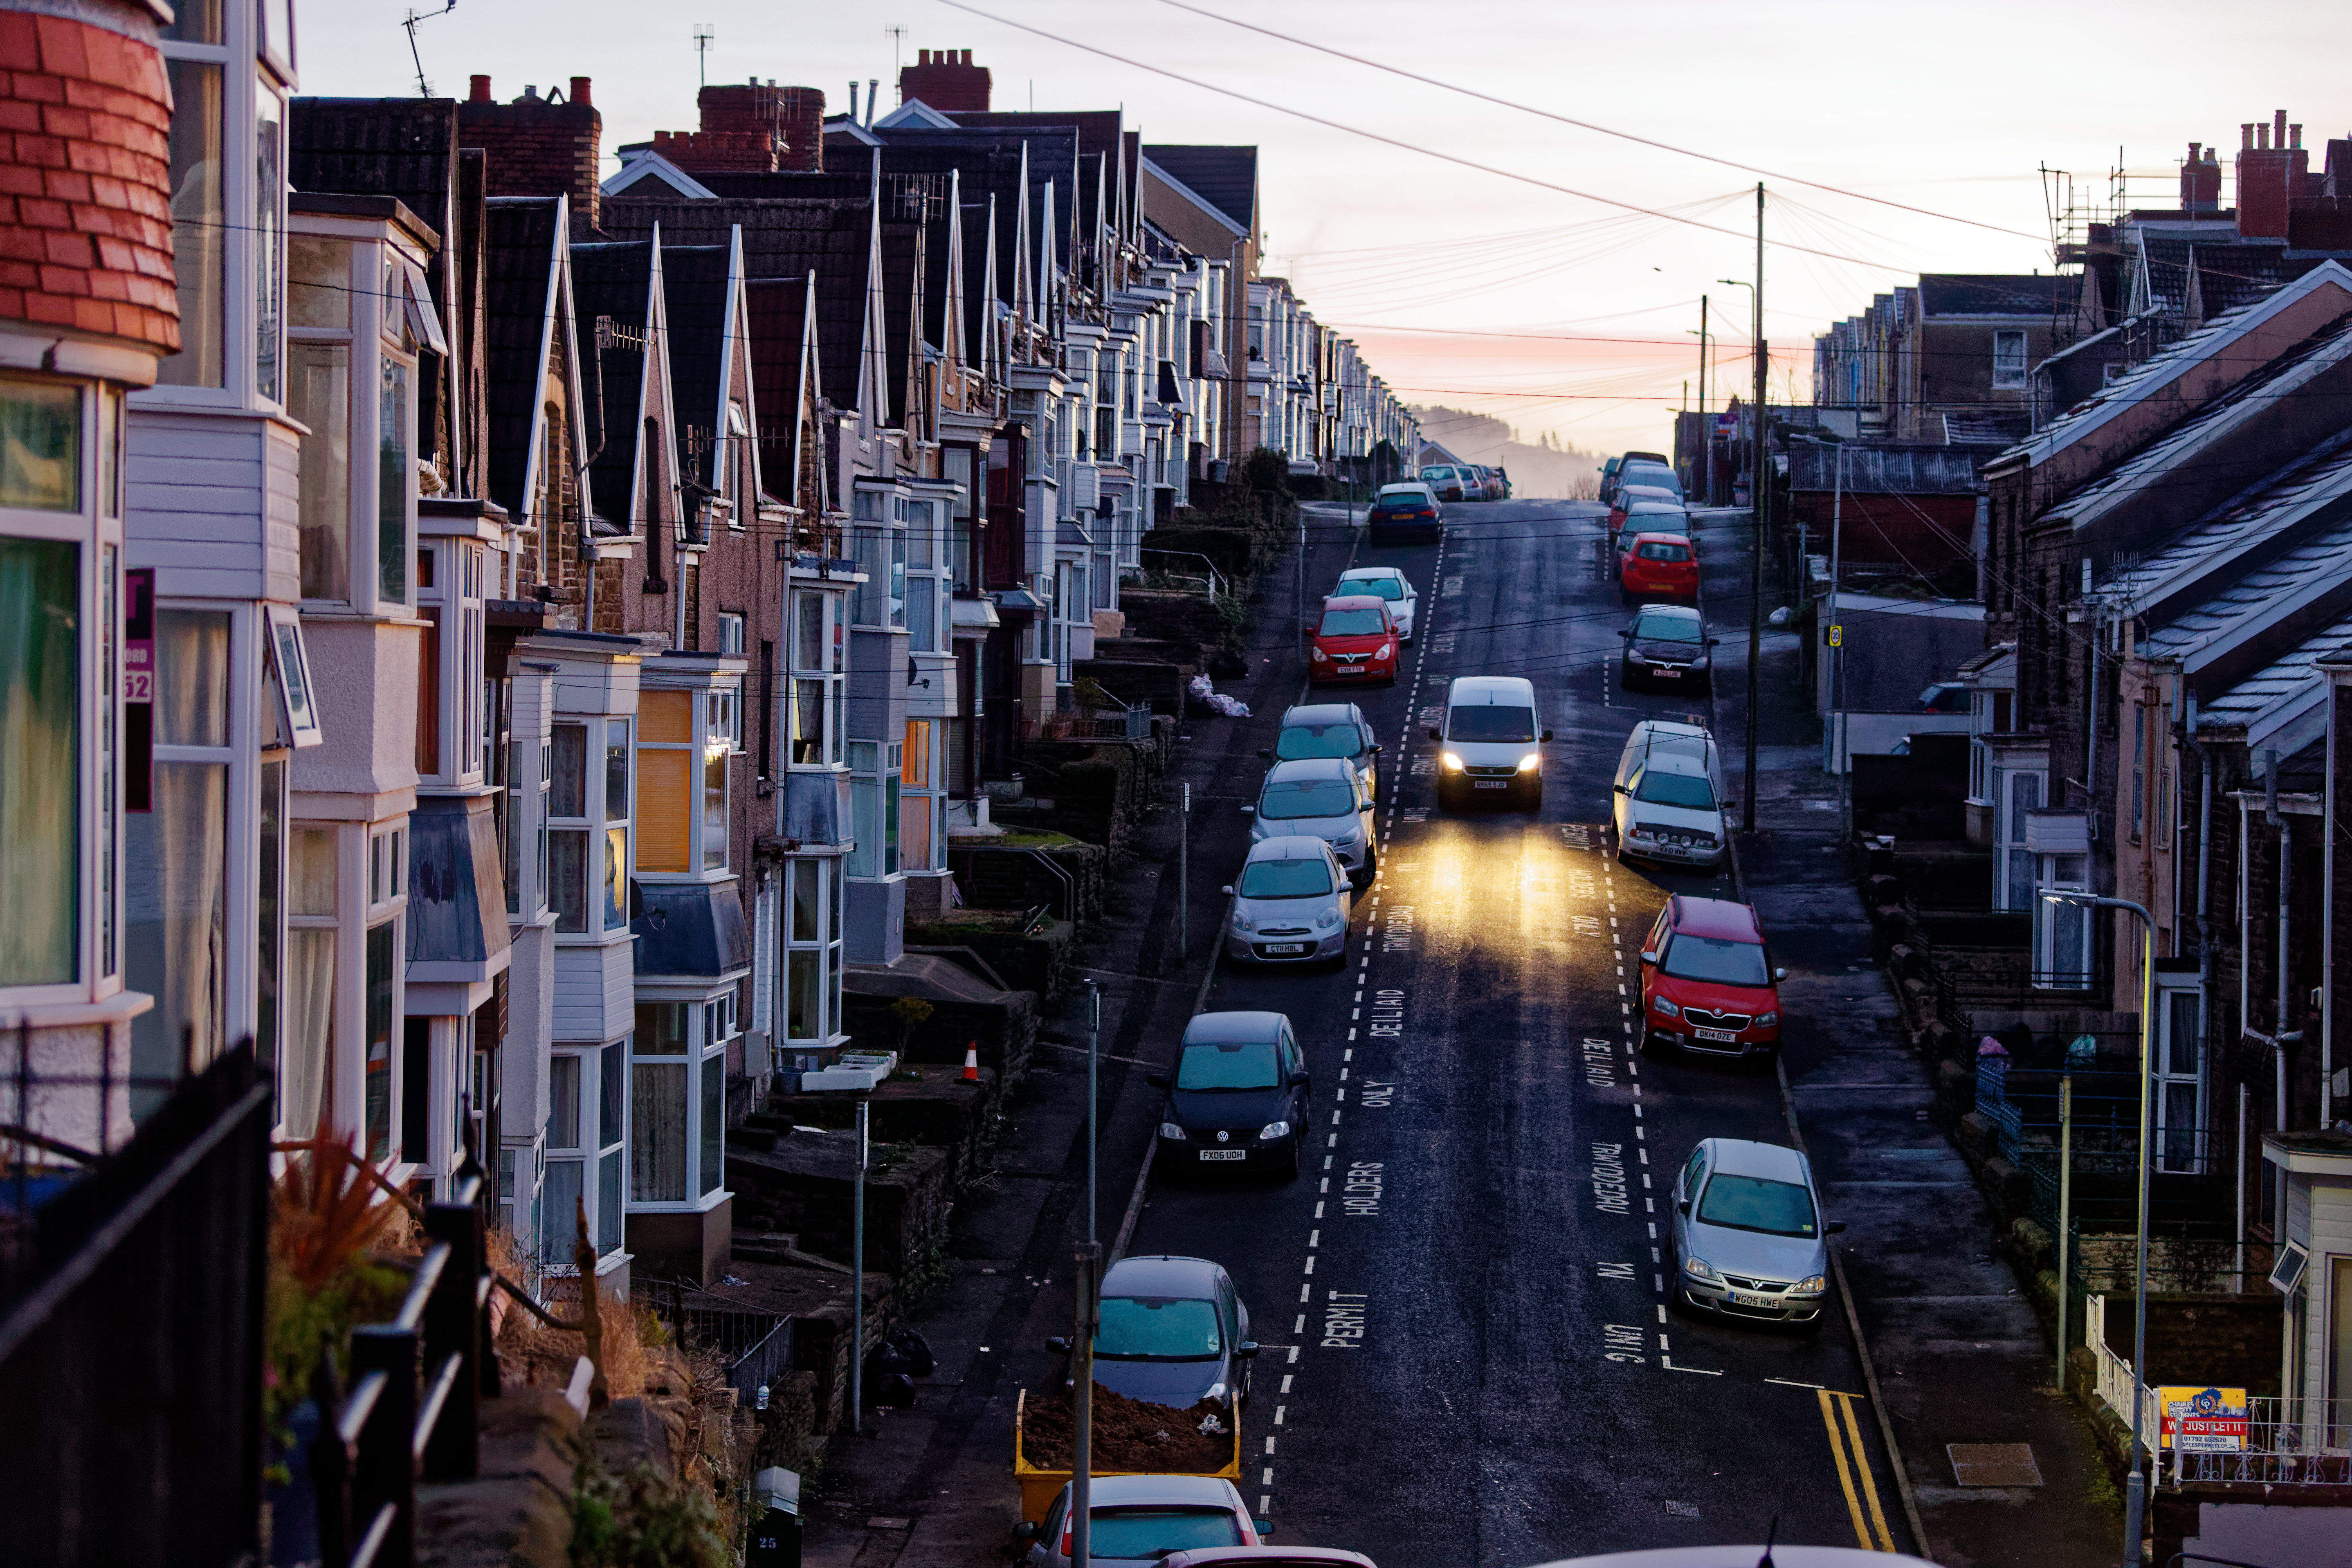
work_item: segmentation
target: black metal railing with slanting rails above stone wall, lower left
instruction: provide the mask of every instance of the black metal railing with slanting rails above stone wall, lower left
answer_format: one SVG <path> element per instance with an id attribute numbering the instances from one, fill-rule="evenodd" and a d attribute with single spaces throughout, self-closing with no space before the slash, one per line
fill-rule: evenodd
<path id="1" fill-rule="evenodd" d="M 388 1324 L 350 1331 L 350 1392 L 334 1375 L 310 1443 L 320 1561 L 327 1568 L 412 1568 L 416 1479 L 470 1481 L 482 1460 L 480 1406 L 499 1392 L 489 1338 L 482 1173 L 468 1157 L 456 1197 L 426 1204 L 426 1255 Z"/>

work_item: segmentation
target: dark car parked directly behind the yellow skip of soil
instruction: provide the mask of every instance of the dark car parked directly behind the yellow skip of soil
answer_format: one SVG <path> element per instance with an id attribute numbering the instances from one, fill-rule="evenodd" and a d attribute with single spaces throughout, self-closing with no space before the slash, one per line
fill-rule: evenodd
<path id="1" fill-rule="evenodd" d="M 1204 1399 L 1230 1406 L 1249 1399 L 1247 1363 L 1258 1354 L 1249 1307 L 1232 1276 L 1207 1258 L 1120 1258 L 1103 1272 L 1094 1307 L 1094 1380 L 1112 1394 L 1174 1410 Z M 1047 1345 L 1070 1349 L 1070 1340 Z"/>

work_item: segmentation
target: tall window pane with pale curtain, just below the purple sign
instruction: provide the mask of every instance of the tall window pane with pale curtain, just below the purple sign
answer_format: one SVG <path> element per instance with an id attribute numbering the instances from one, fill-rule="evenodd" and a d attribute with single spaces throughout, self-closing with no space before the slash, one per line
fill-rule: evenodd
<path id="1" fill-rule="evenodd" d="M 153 778 L 153 809 L 129 813 L 122 846 L 122 980 L 155 997 L 132 1020 L 132 1067 L 169 1079 L 223 1044 L 228 766 L 158 762 Z"/>

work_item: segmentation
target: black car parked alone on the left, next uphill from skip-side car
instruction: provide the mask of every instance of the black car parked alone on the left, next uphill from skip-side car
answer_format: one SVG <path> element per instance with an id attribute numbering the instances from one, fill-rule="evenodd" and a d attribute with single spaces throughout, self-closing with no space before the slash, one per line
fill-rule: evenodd
<path id="1" fill-rule="evenodd" d="M 1251 853 L 1249 863 L 1258 865 L 1258 856 Z M 1301 856 L 1265 865 L 1279 870 L 1315 863 Z M 1249 886 L 1247 877 L 1244 870 L 1242 886 Z M 1345 933 L 1345 893 L 1338 900 Z M 1169 1091 L 1160 1107 L 1162 1166 L 1298 1175 L 1298 1140 L 1305 1138 L 1312 1084 L 1308 1056 L 1282 1013 L 1197 1013 L 1176 1051 L 1176 1072 L 1155 1072 L 1152 1088 Z"/>

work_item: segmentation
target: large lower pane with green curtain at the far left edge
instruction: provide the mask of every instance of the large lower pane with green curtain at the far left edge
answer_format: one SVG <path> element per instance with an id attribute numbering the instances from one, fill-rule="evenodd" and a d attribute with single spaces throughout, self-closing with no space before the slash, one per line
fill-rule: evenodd
<path id="1" fill-rule="evenodd" d="M 0 985 L 78 978 L 78 545 L 0 538 Z"/>

